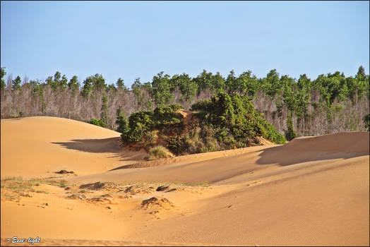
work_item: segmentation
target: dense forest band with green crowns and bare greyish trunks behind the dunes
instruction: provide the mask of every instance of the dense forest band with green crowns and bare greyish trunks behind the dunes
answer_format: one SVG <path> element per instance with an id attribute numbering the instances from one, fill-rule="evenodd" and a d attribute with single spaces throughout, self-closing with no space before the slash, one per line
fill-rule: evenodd
<path id="1" fill-rule="evenodd" d="M 131 88 L 119 78 L 107 84 L 100 74 L 82 83 L 77 76 L 66 78 L 57 71 L 45 81 L 6 76 L 1 68 L 1 119 L 21 116 L 59 116 L 86 121 L 117 130 L 117 116 L 154 111 L 179 104 L 184 109 L 219 93 L 248 97 L 264 119 L 285 135 L 323 135 L 342 131 L 366 131 L 369 126 L 369 75 L 360 66 L 356 75 L 335 72 L 311 80 L 280 76 L 275 69 L 256 78 L 251 71 L 227 77 L 203 71 L 191 78 L 164 72 Z M 294 136 L 293 136 L 294 137 Z"/>

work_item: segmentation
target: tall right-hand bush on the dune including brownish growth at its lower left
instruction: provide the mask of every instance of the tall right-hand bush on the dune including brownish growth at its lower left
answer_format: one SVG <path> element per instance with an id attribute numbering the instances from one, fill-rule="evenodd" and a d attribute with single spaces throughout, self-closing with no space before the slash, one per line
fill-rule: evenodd
<path id="1" fill-rule="evenodd" d="M 198 121 L 188 132 L 165 138 L 167 147 L 177 155 L 258 145 L 258 135 L 278 144 L 286 141 L 256 112 L 246 95 L 220 92 L 210 100 L 196 102 L 191 110 L 198 111 Z"/>

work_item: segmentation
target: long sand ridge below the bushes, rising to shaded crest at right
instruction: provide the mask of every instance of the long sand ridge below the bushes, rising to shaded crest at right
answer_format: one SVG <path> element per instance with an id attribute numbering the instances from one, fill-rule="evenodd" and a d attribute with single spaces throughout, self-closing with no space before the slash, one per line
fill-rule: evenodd
<path id="1" fill-rule="evenodd" d="M 348 144 L 345 143 L 346 139 Z M 338 142 L 337 140 L 341 140 Z M 323 144 L 321 144 L 321 142 Z M 330 150 L 330 142 L 333 150 Z M 346 149 L 348 147 L 348 150 Z M 354 147 L 357 147 L 355 149 Z M 146 169 L 116 169 L 102 174 L 71 178 L 69 181 L 89 183 L 93 181 L 168 181 L 215 183 L 235 176 L 271 169 L 274 172 L 289 171 L 280 166 L 306 163 L 309 166 L 326 164 L 330 159 L 349 159 L 369 154 L 369 133 L 337 133 L 292 140 L 287 145 L 249 147 L 249 152 L 230 157 L 216 157 L 201 162 L 180 160 Z M 367 150 L 367 152 L 366 152 Z M 212 153 L 209 153 L 212 154 Z M 186 157 L 183 157 L 186 159 Z M 297 166 L 296 166 L 297 167 Z M 294 169 L 293 167 L 290 169 Z M 255 176 L 254 174 L 253 176 Z"/>

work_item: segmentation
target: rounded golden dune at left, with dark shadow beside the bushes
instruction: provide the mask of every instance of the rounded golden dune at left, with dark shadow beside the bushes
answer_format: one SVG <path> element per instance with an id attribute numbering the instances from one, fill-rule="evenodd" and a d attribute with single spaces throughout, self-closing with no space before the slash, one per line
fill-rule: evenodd
<path id="1" fill-rule="evenodd" d="M 89 123 L 44 116 L 1 119 L 1 177 L 53 176 L 61 169 L 91 174 L 145 155 L 121 151 L 119 133 Z"/>

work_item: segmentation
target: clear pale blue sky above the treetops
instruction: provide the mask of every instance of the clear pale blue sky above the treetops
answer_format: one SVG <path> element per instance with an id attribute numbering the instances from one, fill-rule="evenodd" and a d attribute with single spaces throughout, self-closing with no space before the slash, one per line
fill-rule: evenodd
<path id="1" fill-rule="evenodd" d="M 1 67 L 80 83 L 160 71 L 369 74 L 369 1 L 1 1 Z"/>

